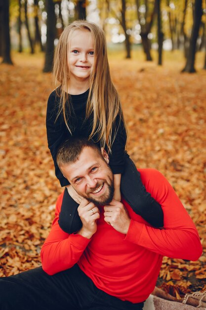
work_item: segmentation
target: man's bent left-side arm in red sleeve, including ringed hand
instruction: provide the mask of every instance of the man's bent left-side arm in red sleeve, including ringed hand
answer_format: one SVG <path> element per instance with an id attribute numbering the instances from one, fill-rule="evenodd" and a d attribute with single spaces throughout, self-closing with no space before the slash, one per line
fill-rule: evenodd
<path id="1" fill-rule="evenodd" d="M 89 238 L 96 231 L 95 221 L 99 218 L 98 208 L 84 200 L 80 210 L 78 208 L 82 216 L 82 229 L 78 234 L 65 233 L 58 224 L 62 199 L 63 193 L 57 200 L 52 228 L 41 249 L 42 268 L 49 275 L 71 268 L 78 262 L 90 241 Z M 91 212 L 91 208 L 94 213 Z"/>

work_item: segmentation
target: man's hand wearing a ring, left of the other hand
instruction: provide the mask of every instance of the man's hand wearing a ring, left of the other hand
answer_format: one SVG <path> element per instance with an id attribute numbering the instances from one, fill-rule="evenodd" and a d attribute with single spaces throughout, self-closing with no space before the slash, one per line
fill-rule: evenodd
<path id="1" fill-rule="evenodd" d="M 78 234 L 90 239 L 97 230 L 96 220 L 100 217 L 99 209 L 93 203 L 89 203 L 88 200 L 83 198 L 78 207 L 78 213 L 82 220 L 82 228 Z"/>

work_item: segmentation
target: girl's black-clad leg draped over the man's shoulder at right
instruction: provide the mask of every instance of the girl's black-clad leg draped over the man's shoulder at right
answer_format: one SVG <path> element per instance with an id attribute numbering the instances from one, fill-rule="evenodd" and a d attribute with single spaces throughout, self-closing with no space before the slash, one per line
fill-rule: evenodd
<path id="1" fill-rule="evenodd" d="M 121 193 L 135 213 L 142 216 L 154 227 L 164 226 L 164 215 L 161 205 L 147 193 L 142 184 L 140 173 L 129 155 L 125 156 L 125 170 L 121 177 Z"/>

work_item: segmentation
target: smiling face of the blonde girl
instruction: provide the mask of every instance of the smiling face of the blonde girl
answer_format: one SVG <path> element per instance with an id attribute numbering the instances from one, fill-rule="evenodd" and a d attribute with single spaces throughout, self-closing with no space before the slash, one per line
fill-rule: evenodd
<path id="1" fill-rule="evenodd" d="M 70 82 L 89 80 L 94 63 L 94 43 L 86 29 L 73 32 L 67 54 Z"/>

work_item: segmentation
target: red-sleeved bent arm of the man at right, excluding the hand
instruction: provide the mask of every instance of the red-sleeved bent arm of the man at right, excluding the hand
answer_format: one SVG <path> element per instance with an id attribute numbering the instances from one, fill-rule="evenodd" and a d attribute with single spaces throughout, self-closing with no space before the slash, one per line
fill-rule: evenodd
<path id="1" fill-rule="evenodd" d="M 125 241 L 170 258 L 197 260 L 202 245 L 195 224 L 165 177 L 154 169 L 140 169 L 146 190 L 164 212 L 164 228 L 155 229 L 131 219 Z"/>

